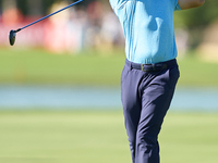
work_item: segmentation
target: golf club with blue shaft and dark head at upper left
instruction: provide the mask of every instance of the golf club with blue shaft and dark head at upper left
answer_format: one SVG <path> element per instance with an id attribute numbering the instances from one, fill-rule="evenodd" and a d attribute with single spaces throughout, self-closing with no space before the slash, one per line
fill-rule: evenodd
<path id="1" fill-rule="evenodd" d="M 57 12 L 53 12 L 53 13 L 51 13 L 51 14 L 49 14 L 49 15 L 43 17 L 43 18 L 39 18 L 39 20 L 37 20 L 37 21 L 35 21 L 35 22 L 33 22 L 33 23 L 31 23 L 31 24 L 28 24 L 28 25 L 26 25 L 26 26 L 24 26 L 24 27 L 22 27 L 22 28 L 19 28 L 19 29 L 16 29 L 16 30 L 10 30 L 10 33 L 9 33 L 9 42 L 10 42 L 10 45 L 11 45 L 11 46 L 14 45 L 14 42 L 15 42 L 15 37 L 16 37 L 16 33 L 19 33 L 19 32 L 21 32 L 22 29 L 24 29 L 24 28 L 26 28 L 26 27 L 29 27 L 29 26 L 32 26 L 32 25 L 34 25 L 34 24 L 36 24 L 36 23 L 38 23 L 38 22 L 40 22 L 40 21 L 43 21 L 43 20 L 45 20 L 45 18 L 48 18 L 48 17 L 50 17 L 50 16 L 52 16 L 52 15 L 55 15 L 55 14 L 57 14 L 57 13 L 59 13 L 59 12 L 65 10 L 65 9 L 69 9 L 69 8 L 71 8 L 71 7 L 73 7 L 73 5 L 77 4 L 77 3 L 80 3 L 80 2 L 82 2 L 82 1 L 83 1 L 83 0 L 78 0 L 78 1 L 72 3 L 72 4 L 70 4 L 70 5 L 63 8 L 63 9 L 61 9 L 61 10 L 59 10 L 59 11 L 57 11 Z"/>

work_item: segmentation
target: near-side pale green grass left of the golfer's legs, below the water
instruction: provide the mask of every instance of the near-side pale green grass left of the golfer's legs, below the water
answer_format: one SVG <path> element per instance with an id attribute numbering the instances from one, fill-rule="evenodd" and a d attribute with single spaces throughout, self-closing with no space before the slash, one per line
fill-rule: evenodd
<path id="1" fill-rule="evenodd" d="M 128 162 L 121 112 L 1 112 L 1 163 Z"/>

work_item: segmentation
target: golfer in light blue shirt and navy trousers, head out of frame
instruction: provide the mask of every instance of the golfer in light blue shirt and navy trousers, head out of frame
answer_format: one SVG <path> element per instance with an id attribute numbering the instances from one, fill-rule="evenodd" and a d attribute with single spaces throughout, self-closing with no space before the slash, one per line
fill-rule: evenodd
<path id="1" fill-rule="evenodd" d="M 180 76 L 173 12 L 204 0 L 110 0 L 125 36 L 121 100 L 133 163 L 159 163 L 158 134 Z"/>

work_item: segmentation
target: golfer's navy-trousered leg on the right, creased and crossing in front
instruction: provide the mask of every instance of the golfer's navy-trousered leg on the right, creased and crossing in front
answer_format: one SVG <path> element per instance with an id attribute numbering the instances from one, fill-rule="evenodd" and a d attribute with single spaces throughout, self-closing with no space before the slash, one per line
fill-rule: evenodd
<path id="1" fill-rule="evenodd" d="M 159 72 L 144 85 L 136 133 L 135 163 L 159 163 L 158 134 L 179 78 L 178 66 Z"/>

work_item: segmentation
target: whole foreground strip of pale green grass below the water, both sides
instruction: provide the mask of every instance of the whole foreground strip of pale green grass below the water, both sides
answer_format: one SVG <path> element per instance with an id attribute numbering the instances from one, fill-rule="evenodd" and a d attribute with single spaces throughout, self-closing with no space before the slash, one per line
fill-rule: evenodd
<path id="1" fill-rule="evenodd" d="M 169 113 L 161 163 L 217 163 L 218 113 Z M 121 111 L 0 111 L 2 163 L 131 163 Z"/>

